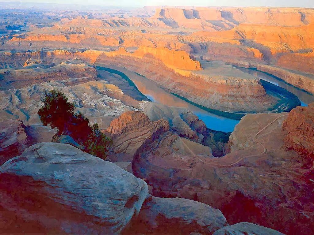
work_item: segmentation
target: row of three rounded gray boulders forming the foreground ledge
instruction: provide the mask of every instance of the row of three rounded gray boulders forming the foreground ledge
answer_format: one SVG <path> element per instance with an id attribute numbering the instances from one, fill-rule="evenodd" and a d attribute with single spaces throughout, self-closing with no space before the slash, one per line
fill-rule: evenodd
<path id="1" fill-rule="evenodd" d="M 0 167 L 0 217 L 5 218 L 0 222 L 2 231 L 95 235 L 211 235 L 215 231 L 281 234 L 254 224 L 228 226 L 221 211 L 198 201 L 151 196 L 143 180 L 117 165 L 68 144 L 32 145 Z"/>

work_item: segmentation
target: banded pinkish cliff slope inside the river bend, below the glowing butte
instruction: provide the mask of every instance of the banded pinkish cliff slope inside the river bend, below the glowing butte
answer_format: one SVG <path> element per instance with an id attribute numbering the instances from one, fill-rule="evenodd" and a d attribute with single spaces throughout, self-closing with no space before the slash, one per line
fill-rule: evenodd
<path id="1" fill-rule="evenodd" d="M 159 60 L 147 56 L 142 59 L 128 55 L 99 56 L 96 62 L 117 70 L 124 67 L 134 71 L 204 107 L 229 112 L 240 110 L 263 112 L 275 102 L 266 94 L 256 77 L 239 74 L 239 70 L 236 69 L 230 71 L 231 67 L 224 64 L 215 65 L 215 72 L 211 74 L 213 69 L 211 67 L 199 72 L 173 70 L 164 66 Z M 224 66 L 228 73 L 221 68 Z M 234 102 L 235 100 L 237 102 Z"/>

